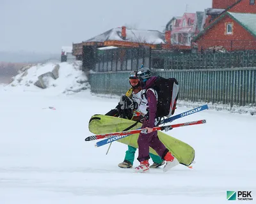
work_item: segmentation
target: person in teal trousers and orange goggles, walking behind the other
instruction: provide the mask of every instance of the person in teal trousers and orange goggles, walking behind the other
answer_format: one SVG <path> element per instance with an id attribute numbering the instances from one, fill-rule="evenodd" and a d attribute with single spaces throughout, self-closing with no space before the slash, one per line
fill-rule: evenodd
<path id="1" fill-rule="evenodd" d="M 118 112 L 118 114 L 122 118 L 128 118 L 135 121 L 140 120 L 140 112 L 138 110 L 138 107 L 141 103 L 142 88 L 140 86 L 139 78 L 136 77 L 136 71 L 131 72 L 129 76 L 129 83 L 131 85 L 131 89 L 129 89 L 129 91 L 127 91 L 125 95 L 121 96 L 118 106 L 116 106 L 114 110 L 111 110 L 106 115 L 113 115 Z M 129 113 L 129 109 L 131 109 L 131 106 L 132 106 L 132 118 L 131 118 L 131 113 Z M 117 116 L 117 114 L 115 116 Z M 136 152 L 136 148 L 128 145 L 128 150 L 125 152 L 124 161 L 118 164 L 118 166 L 120 168 L 132 168 L 135 152 Z M 150 166 L 150 168 L 157 168 L 165 164 L 165 161 L 161 159 L 161 157 L 156 156 L 155 154 L 150 153 L 150 157 L 154 162 Z"/>

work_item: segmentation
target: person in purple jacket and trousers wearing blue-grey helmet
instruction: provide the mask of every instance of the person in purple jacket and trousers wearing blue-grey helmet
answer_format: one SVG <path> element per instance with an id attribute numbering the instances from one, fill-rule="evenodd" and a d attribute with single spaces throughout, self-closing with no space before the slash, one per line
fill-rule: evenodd
<path id="1" fill-rule="evenodd" d="M 148 68 L 141 68 L 136 74 L 140 78 L 142 94 L 140 112 L 144 117 L 141 128 L 146 128 L 147 133 L 140 133 L 138 138 L 139 155 L 138 161 L 140 166 L 135 168 L 137 172 L 145 172 L 149 170 L 149 147 L 152 147 L 157 154 L 166 161 L 164 171 L 170 170 L 173 166 L 177 166 L 179 161 L 172 156 L 171 152 L 164 146 L 157 136 L 157 131 L 152 131 L 157 126 L 160 119 L 156 118 L 157 113 L 157 92 L 154 90 L 154 82 L 157 77 L 151 77 L 151 71 Z"/>

